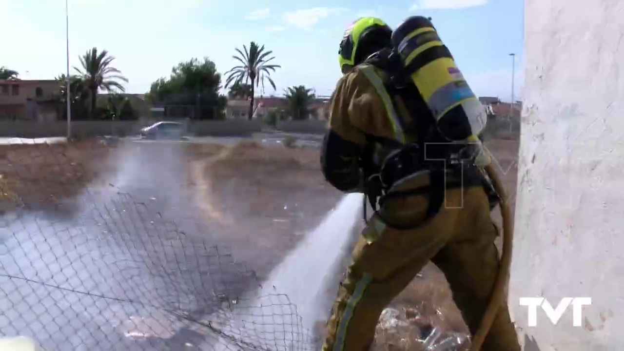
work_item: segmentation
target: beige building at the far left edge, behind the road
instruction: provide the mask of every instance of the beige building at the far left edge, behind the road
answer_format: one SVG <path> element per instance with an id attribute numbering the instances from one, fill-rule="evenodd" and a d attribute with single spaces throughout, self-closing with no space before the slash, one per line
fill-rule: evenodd
<path id="1" fill-rule="evenodd" d="M 0 121 L 56 119 L 59 89 L 55 80 L 0 80 Z"/>

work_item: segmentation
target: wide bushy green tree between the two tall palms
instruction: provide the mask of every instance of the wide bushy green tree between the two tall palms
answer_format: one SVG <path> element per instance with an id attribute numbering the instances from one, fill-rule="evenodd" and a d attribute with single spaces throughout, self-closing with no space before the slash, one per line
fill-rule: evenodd
<path id="1" fill-rule="evenodd" d="M 153 82 L 147 98 L 153 104 L 165 105 L 168 116 L 176 114 L 175 107 L 171 106 L 193 106 L 192 116 L 183 117 L 223 119 L 227 98 L 219 94 L 220 89 L 221 74 L 215 63 L 208 57 L 203 61 L 193 58 L 173 67 L 168 78 Z"/>

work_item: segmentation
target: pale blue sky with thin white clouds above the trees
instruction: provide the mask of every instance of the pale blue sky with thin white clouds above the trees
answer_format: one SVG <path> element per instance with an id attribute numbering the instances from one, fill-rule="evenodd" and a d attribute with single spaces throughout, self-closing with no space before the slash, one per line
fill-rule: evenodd
<path id="1" fill-rule="evenodd" d="M 329 96 L 341 76 L 338 46 L 358 17 L 376 16 L 392 28 L 409 16 L 431 16 L 479 96 L 522 94 L 522 0 L 68 0 L 69 63 L 91 47 L 115 57 L 129 79 L 126 91 L 144 93 L 173 66 L 208 57 L 224 73 L 236 62 L 235 48 L 250 41 L 273 51 L 280 96 L 303 85 Z M 0 66 L 22 79 L 54 79 L 66 72 L 65 0 L 0 0 L 5 35 Z M 73 72 L 73 68 L 71 68 Z"/>

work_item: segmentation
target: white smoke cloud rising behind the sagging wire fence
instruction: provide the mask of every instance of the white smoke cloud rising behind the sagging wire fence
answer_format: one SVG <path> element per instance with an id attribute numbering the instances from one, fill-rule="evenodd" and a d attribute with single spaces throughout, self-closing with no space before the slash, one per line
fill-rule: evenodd
<path id="1" fill-rule="evenodd" d="M 198 350 L 217 340 L 174 314 L 210 319 L 250 277 L 194 219 L 182 148 L 130 150 L 110 180 L 118 189 L 85 194 L 75 217 L 0 219 L 0 334 L 46 351 Z"/>

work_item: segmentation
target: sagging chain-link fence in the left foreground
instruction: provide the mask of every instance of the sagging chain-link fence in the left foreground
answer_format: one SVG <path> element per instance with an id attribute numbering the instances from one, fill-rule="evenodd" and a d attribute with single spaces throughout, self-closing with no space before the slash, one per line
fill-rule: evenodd
<path id="1" fill-rule="evenodd" d="M 207 227 L 86 187 L 108 152 L 90 147 L 0 146 L 0 337 L 46 351 L 313 348 L 296 306 Z"/>

